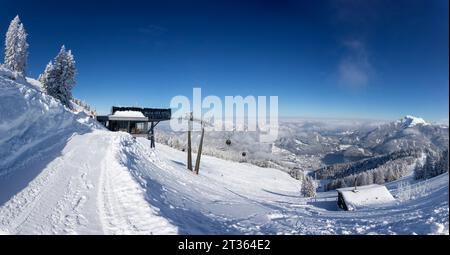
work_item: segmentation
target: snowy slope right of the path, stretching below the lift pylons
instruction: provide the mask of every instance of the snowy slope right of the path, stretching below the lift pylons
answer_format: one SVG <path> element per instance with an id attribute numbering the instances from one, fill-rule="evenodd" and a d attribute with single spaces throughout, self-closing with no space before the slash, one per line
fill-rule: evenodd
<path id="1" fill-rule="evenodd" d="M 128 154 L 123 159 L 146 188 L 147 200 L 180 233 L 448 233 L 448 174 L 401 189 L 390 187 L 402 197 L 417 190 L 401 202 L 344 212 L 337 209 L 336 192 L 302 198 L 300 183 L 275 169 L 204 156 L 196 176 L 185 170 L 185 153 L 159 144 L 148 152 L 144 139 L 133 144 L 122 146 Z M 142 157 L 145 154 L 149 157 Z"/>

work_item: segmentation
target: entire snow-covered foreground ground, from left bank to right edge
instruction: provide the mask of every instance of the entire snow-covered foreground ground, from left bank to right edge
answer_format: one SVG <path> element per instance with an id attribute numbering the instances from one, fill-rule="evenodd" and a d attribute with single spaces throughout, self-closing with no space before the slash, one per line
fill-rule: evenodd
<path id="1" fill-rule="evenodd" d="M 0 68 L 0 233 L 448 234 L 449 176 L 387 185 L 396 202 L 337 210 L 287 173 L 112 133 Z M 193 157 L 195 159 L 195 155 Z"/>

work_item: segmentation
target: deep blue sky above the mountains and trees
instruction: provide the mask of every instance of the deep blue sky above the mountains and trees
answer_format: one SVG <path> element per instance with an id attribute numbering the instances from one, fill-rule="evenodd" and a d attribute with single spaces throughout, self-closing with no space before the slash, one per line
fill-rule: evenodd
<path id="1" fill-rule="evenodd" d="M 20 15 L 29 76 L 65 44 L 74 96 L 168 107 L 176 95 L 279 96 L 281 116 L 448 121 L 447 0 L 0 0 Z M 3 49 L 0 50 L 3 55 Z"/>

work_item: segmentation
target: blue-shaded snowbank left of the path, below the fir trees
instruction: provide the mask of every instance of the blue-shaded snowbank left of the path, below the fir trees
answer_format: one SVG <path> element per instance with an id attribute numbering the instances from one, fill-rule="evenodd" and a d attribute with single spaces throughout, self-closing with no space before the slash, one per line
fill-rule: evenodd
<path id="1" fill-rule="evenodd" d="M 5 73 L 5 70 L 0 70 Z M 20 78 L 20 77 L 19 77 Z M 38 157 L 73 134 L 91 131 L 98 124 L 87 115 L 75 115 L 33 85 L 0 75 L 0 176 Z"/>

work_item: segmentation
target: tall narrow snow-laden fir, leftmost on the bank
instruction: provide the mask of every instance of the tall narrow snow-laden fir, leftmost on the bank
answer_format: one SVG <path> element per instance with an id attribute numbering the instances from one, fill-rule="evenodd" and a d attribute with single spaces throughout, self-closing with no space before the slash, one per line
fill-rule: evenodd
<path id="1" fill-rule="evenodd" d="M 4 65 L 11 71 L 25 75 L 27 58 L 27 33 L 19 16 L 16 16 L 6 32 Z"/>

